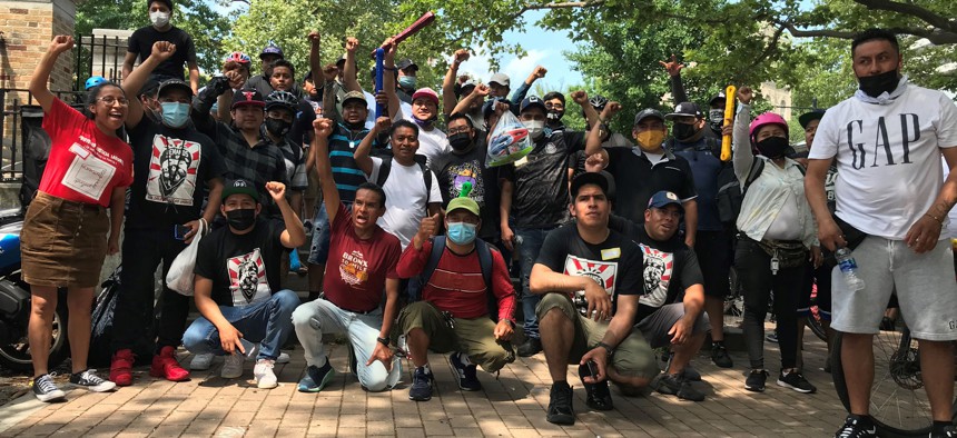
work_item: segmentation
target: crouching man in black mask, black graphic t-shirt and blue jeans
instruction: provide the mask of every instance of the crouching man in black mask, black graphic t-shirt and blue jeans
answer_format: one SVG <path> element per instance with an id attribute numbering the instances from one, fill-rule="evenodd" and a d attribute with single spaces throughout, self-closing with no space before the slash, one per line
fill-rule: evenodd
<path id="1" fill-rule="evenodd" d="M 259 388 L 278 386 L 273 366 L 293 331 L 293 310 L 299 297 L 279 290 L 279 259 L 306 241 L 303 222 L 286 201 L 286 186 L 266 183 L 283 220 L 260 216 L 263 205 L 253 183 L 236 180 L 223 189 L 219 207 L 228 226 L 203 238 L 196 255 L 196 308 L 201 318 L 182 336 L 194 355 L 229 355 L 224 378 L 243 375 L 245 355 L 259 342 L 253 374 Z"/>

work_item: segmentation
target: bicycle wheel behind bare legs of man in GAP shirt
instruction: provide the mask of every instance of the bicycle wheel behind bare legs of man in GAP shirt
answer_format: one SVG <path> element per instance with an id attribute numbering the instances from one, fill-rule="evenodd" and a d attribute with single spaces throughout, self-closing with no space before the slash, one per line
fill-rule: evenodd
<path id="1" fill-rule="evenodd" d="M 835 390 L 850 411 L 841 366 L 843 336 L 835 331 L 831 351 L 831 376 Z M 870 388 L 870 416 L 882 437 L 927 436 L 930 431 L 930 402 L 920 379 L 917 341 L 901 322 L 895 330 L 881 330 L 874 337 L 874 385 Z"/>

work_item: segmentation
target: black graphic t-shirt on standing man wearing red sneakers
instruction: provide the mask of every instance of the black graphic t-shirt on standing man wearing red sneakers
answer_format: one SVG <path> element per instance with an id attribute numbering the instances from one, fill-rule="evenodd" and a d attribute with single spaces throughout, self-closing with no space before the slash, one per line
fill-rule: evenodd
<path id="1" fill-rule="evenodd" d="M 171 226 L 203 216 L 206 182 L 226 172 L 213 140 L 191 126 L 171 129 L 147 117 L 128 133 L 134 183 L 127 227 Z"/>

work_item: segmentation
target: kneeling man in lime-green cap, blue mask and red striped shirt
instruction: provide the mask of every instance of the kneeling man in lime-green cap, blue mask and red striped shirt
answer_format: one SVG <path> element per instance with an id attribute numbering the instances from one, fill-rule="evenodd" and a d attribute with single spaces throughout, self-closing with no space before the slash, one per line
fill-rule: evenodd
<path id="1" fill-rule="evenodd" d="M 460 197 L 448 202 L 447 237 L 435 233 L 438 215 L 422 220 L 418 233 L 398 260 L 399 277 L 422 276 L 422 301 L 398 315 L 398 326 L 408 341 L 415 365 L 408 398 L 432 398 L 433 377 L 427 350 L 453 351 L 448 362 L 458 378 L 458 388 L 482 389 L 476 365 L 495 372 L 515 360 L 509 341 L 515 326 L 515 290 L 502 253 L 491 248 L 475 231 L 481 227 L 478 203 Z M 425 272 L 423 272 L 425 270 Z M 489 293 L 497 302 L 499 322 L 489 318 Z"/>

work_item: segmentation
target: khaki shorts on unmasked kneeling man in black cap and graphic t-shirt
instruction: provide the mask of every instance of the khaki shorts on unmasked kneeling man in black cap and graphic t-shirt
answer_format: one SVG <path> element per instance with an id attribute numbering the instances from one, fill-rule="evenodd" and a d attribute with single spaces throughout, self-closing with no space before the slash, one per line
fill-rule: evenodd
<path id="1" fill-rule="evenodd" d="M 552 292 L 542 297 L 535 309 L 539 321 L 552 309 L 561 310 L 574 322 L 575 336 L 568 360 L 569 364 L 581 362 L 582 356 L 604 338 L 608 322 L 596 322 L 579 313 L 572 299 L 565 293 Z M 541 326 L 539 329 L 543 331 Z M 631 334 L 615 347 L 610 364 L 619 374 L 629 377 L 651 379 L 661 372 L 654 361 L 654 351 L 638 329 L 632 329 Z"/>

